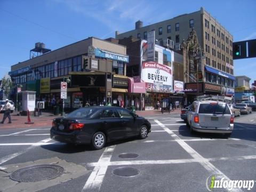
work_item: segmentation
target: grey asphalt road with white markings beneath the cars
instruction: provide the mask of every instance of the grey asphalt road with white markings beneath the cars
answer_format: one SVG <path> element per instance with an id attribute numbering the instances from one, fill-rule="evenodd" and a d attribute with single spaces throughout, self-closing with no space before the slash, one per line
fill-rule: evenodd
<path id="1" fill-rule="evenodd" d="M 49 138 L 50 127 L 0 130 L 0 191 L 207 191 L 211 175 L 256 180 L 256 112 L 236 117 L 228 139 L 221 134 L 191 135 L 179 115 L 146 118 L 152 125 L 148 138 L 108 143 L 101 150 L 55 142 Z M 123 153 L 138 157 L 120 158 Z M 64 173 L 37 182 L 9 178 L 18 169 L 42 164 L 59 165 Z M 135 168 L 138 174 L 114 175 L 120 167 Z M 256 181 L 250 191 L 256 191 Z"/>

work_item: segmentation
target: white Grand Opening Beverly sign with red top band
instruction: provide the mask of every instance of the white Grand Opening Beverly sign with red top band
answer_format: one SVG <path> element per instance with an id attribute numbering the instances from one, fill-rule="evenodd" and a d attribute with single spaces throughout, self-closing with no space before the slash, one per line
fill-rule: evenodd
<path id="1" fill-rule="evenodd" d="M 144 62 L 142 63 L 141 79 L 148 83 L 149 87 L 146 89 L 172 91 L 172 70 L 169 66 L 151 61 Z"/>

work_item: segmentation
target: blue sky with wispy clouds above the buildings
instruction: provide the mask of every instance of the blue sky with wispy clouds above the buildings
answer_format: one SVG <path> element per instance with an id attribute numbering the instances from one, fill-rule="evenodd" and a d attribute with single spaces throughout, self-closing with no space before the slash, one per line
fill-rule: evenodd
<path id="1" fill-rule="evenodd" d="M 0 0 L 0 78 L 11 65 L 28 60 L 36 42 L 55 50 L 91 36 L 115 37 L 116 30 L 134 29 L 137 20 L 148 25 L 198 11 L 201 6 L 233 34 L 234 42 L 256 39 L 255 0 Z M 256 58 L 234 63 L 235 75 L 256 80 Z"/>

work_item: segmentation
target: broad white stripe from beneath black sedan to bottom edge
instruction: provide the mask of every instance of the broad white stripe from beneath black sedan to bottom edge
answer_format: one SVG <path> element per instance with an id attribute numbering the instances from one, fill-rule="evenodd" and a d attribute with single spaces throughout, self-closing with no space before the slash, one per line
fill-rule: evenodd
<path id="1" fill-rule="evenodd" d="M 108 169 L 108 165 L 105 166 L 105 164 L 109 164 L 115 147 L 116 146 L 107 147 L 102 153 L 98 161 L 98 166 L 94 167 L 90 177 L 87 179 L 82 189 L 82 192 L 86 190 L 100 190 L 101 183 Z"/>

